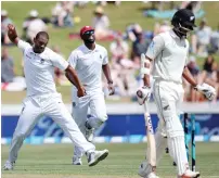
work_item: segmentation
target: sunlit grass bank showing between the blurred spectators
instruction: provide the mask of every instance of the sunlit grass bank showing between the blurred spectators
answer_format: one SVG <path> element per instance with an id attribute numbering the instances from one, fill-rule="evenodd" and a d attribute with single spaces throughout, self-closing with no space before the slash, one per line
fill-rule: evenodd
<path id="1" fill-rule="evenodd" d="M 9 12 L 9 16 L 13 20 L 18 34 L 22 34 L 22 24 L 24 18 L 28 15 L 29 11 L 36 9 L 40 16 L 51 16 L 51 10 L 55 5 L 56 2 L 52 1 L 44 1 L 44 2 L 18 2 L 18 1 L 3 1 L 1 2 L 1 8 L 5 9 Z M 180 2 L 175 2 L 178 4 Z M 115 7 L 113 4 L 108 4 L 104 7 L 105 13 L 108 15 L 111 20 L 111 28 L 114 30 L 125 31 L 127 24 L 130 23 L 139 23 L 143 29 L 153 30 L 154 24 L 156 21 L 160 22 L 163 20 L 154 20 L 150 17 L 143 16 L 143 10 L 150 8 L 151 3 L 142 3 L 138 1 L 132 2 L 125 2 L 123 1 L 120 7 Z M 165 4 L 165 9 L 168 9 L 169 5 Z M 92 21 L 92 13 L 95 9 L 93 3 L 89 3 L 85 9 L 75 8 L 74 15 L 79 16 L 81 22 L 76 24 L 73 28 L 53 28 L 49 26 L 49 34 L 50 34 L 50 42 L 49 47 L 57 44 L 62 51 L 62 53 L 68 58 L 70 51 L 75 49 L 77 46 L 81 43 L 80 40 L 69 40 L 68 34 L 69 33 L 78 33 L 79 29 L 85 25 L 90 25 Z M 203 2 L 203 9 L 205 10 L 206 14 L 205 17 L 208 21 L 208 24 L 212 29 L 216 29 L 218 25 L 219 16 L 219 2 Z M 197 24 L 199 20 L 197 20 Z M 106 47 L 108 49 L 110 42 L 102 42 L 98 41 L 98 43 Z M 16 75 L 22 75 L 22 52 L 16 49 L 15 47 L 10 48 L 10 55 L 14 58 L 15 62 L 15 73 Z M 219 58 L 216 56 L 216 60 L 219 61 Z M 198 64 L 203 64 L 203 59 L 198 59 Z M 69 87 L 59 87 L 59 91 L 62 92 L 64 102 L 69 103 L 70 101 L 70 88 Z M 15 103 L 18 104 L 22 102 L 23 98 L 25 97 L 25 92 L 2 92 L 2 103 L 3 104 L 11 104 Z"/>

